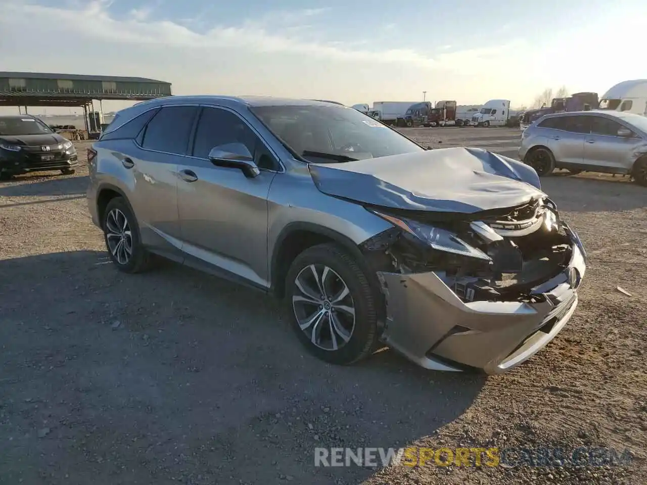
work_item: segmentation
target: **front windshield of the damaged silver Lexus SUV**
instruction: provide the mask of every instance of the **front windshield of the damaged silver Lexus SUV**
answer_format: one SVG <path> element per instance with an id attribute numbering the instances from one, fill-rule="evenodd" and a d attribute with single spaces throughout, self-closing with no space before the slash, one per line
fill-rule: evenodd
<path id="1" fill-rule="evenodd" d="M 310 162 L 347 162 L 424 149 L 377 120 L 342 106 L 261 106 L 252 113 Z"/>

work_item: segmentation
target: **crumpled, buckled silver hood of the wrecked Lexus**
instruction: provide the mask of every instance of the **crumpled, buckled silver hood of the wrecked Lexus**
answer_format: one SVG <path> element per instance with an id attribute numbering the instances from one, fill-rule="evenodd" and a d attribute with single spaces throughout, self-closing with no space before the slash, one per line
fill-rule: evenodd
<path id="1" fill-rule="evenodd" d="M 534 169 L 480 148 L 310 164 L 309 169 L 323 193 L 385 208 L 475 213 L 545 197 Z"/>

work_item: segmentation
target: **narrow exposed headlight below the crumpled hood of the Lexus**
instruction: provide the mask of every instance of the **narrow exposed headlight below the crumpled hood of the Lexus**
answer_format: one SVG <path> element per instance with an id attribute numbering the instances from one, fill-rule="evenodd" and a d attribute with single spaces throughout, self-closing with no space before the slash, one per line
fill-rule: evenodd
<path id="1" fill-rule="evenodd" d="M 378 211 L 371 211 L 375 215 L 382 217 L 386 221 L 391 222 L 394 226 L 400 228 L 428 246 L 437 251 L 444 251 L 447 253 L 454 253 L 462 256 L 474 257 L 483 261 L 492 261 L 490 257 L 483 251 L 474 248 L 467 244 L 465 241 L 457 237 L 454 233 L 421 222 L 411 221 L 411 219 L 400 219 L 392 215 L 384 214 Z"/>

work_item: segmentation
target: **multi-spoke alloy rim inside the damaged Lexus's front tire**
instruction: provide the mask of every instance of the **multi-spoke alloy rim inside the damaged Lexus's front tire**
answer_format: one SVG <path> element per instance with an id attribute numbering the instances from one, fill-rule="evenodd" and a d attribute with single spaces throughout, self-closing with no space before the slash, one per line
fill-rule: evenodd
<path id="1" fill-rule="evenodd" d="M 320 349 L 338 350 L 353 336 L 353 296 L 329 266 L 309 264 L 296 275 L 292 309 L 300 329 Z"/>

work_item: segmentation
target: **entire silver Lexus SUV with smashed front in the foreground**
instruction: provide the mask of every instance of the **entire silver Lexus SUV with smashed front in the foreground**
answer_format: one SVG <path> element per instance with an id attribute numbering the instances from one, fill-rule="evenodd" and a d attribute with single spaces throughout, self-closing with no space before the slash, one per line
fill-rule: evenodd
<path id="1" fill-rule="evenodd" d="M 119 270 L 162 256 L 272 293 L 332 363 L 388 345 L 428 369 L 504 372 L 578 302 L 584 248 L 531 167 L 428 149 L 338 103 L 139 103 L 88 160 Z"/>

